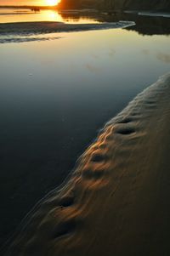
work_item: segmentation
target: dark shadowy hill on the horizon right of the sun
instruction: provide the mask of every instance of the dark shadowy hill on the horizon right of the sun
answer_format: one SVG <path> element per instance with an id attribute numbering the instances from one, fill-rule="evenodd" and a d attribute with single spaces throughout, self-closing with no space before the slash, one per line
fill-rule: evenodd
<path id="1" fill-rule="evenodd" d="M 170 0 L 61 0 L 59 8 L 170 11 Z"/>

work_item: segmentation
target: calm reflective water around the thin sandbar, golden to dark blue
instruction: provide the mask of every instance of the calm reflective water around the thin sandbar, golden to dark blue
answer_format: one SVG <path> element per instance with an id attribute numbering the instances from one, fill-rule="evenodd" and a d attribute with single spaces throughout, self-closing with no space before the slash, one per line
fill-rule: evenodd
<path id="1" fill-rule="evenodd" d="M 0 13 L 0 22 L 121 19 L 54 11 Z M 33 205 L 61 184 L 99 128 L 170 70 L 170 20 L 134 15 L 122 19 L 137 25 L 0 44 L 2 243 Z"/>

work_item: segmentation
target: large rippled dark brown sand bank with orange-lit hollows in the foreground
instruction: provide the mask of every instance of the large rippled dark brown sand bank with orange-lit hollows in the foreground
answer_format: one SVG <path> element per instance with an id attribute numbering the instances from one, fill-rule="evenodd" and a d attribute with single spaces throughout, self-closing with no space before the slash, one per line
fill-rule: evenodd
<path id="1" fill-rule="evenodd" d="M 169 255 L 170 74 L 106 123 L 5 255 Z"/>

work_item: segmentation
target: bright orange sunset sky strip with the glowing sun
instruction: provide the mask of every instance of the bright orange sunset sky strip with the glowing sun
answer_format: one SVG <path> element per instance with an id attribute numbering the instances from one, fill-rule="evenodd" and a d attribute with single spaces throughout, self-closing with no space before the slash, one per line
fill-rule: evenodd
<path id="1" fill-rule="evenodd" d="M 0 0 L 0 5 L 54 5 L 59 0 Z"/>

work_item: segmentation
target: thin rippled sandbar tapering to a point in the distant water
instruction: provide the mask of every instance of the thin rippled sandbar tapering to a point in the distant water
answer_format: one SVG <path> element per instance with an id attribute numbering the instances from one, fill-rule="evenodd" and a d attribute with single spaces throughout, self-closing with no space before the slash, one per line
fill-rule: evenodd
<path id="1" fill-rule="evenodd" d="M 134 25 L 133 21 L 103 22 L 99 24 L 68 24 L 56 21 L 0 23 L 0 44 L 47 41 L 60 38 L 59 36 L 51 37 L 52 33 L 97 31 L 126 28 Z"/>

